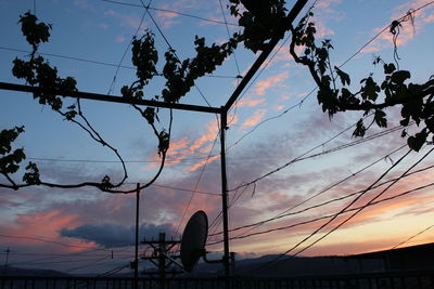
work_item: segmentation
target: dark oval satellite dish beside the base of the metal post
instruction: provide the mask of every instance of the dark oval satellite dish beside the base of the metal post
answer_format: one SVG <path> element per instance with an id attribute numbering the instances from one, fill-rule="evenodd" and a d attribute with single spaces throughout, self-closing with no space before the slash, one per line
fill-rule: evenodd
<path id="1" fill-rule="evenodd" d="M 208 218 L 204 211 L 195 212 L 186 225 L 181 239 L 181 263 L 191 272 L 199 259 L 205 254 L 208 237 Z"/>

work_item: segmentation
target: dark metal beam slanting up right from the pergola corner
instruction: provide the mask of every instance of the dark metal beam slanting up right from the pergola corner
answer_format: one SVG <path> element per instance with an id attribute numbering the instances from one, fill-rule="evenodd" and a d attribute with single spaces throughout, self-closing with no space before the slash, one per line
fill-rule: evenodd
<path id="1" fill-rule="evenodd" d="M 252 65 L 251 69 L 245 74 L 243 79 L 241 80 L 240 84 L 233 91 L 232 95 L 229 97 L 228 102 L 225 104 L 224 109 L 228 111 L 237 98 L 240 96 L 241 92 L 244 90 L 245 86 L 247 86 L 248 81 L 252 77 L 256 74 L 263 63 L 267 60 L 268 55 L 270 55 L 271 51 L 275 49 L 276 44 L 279 42 L 280 39 L 283 38 L 283 35 L 286 30 L 290 29 L 292 23 L 294 22 L 295 17 L 302 11 L 302 9 L 306 5 L 308 0 L 298 0 L 294 6 L 291 9 L 290 13 L 286 16 L 286 25 L 285 27 L 281 27 L 280 32 L 275 35 L 270 42 L 268 42 L 267 47 L 263 50 L 263 53 L 256 58 L 255 63 Z"/>

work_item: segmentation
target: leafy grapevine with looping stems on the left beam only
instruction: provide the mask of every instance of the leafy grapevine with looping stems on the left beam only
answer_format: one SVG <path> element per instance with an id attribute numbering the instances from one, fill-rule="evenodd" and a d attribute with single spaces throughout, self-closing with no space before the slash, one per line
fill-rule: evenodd
<path id="1" fill-rule="evenodd" d="M 50 106 L 51 109 L 60 114 L 64 120 L 80 127 L 93 141 L 112 150 L 123 166 L 124 175 L 117 183 L 113 183 L 110 175 L 106 174 L 100 182 L 55 184 L 42 181 L 37 165 L 29 162 L 25 167 L 25 173 L 22 176 L 23 183 L 18 183 L 14 180 L 14 175 L 18 172 L 26 155 L 24 148 L 16 148 L 13 150 L 12 144 L 16 137 L 24 132 L 25 128 L 15 127 L 13 129 L 2 130 L 0 133 L 0 173 L 5 176 L 9 182 L 9 184 L 0 184 L 0 187 L 18 189 L 30 185 L 46 185 L 62 188 L 94 186 L 103 192 L 110 193 L 136 192 L 136 189 L 119 189 L 128 178 L 125 161 L 118 150 L 110 145 L 86 118 L 80 106 L 80 100 L 77 98 L 76 104 L 64 107 L 62 92 L 66 94 L 77 91 L 76 80 L 73 77 L 61 78 L 58 74 L 58 69 L 52 67 L 41 55 L 38 55 L 39 45 L 42 42 L 48 42 L 50 39 L 52 26 L 39 22 L 30 12 L 26 12 L 24 15 L 20 16 L 18 23 L 21 24 L 23 36 L 31 45 L 33 51 L 28 60 L 15 58 L 13 61 L 12 74 L 16 78 L 25 80 L 26 83 L 40 88 L 40 90 L 34 92 L 34 98 L 38 100 L 41 105 Z M 129 86 L 124 86 L 120 90 L 122 95 L 126 98 L 148 98 L 152 101 L 178 103 L 194 86 L 196 79 L 206 74 L 212 74 L 217 66 L 221 65 L 237 49 L 240 41 L 242 41 L 240 35 L 234 34 L 228 42 L 220 45 L 214 43 L 208 47 L 205 44 L 204 38 L 196 36 L 194 40 L 196 55 L 193 58 L 187 58 L 184 61 L 180 61 L 176 55 L 176 51 L 169 49 L 164 54 L 165 64 L 163 77 L 166 78 L 165 88 L 162 90 L 161 95 L 146 97 L 146 86 L 154 76 L 158 75 L 156 70 L 158 52 L 154 45 L 154 35 L 152 31 L 145 30 L 142 37 L 132 40 L 131 62 L 136 66 L 137 80 Z M 59 94 L 53 93 L 53 91 L 59 91 Z M 141 186 L 141 188 L 143 188 L 151 185 L 158 178 L 164 168 L 170 143 L 173 114 L 170 110 L 168 129 L 158 129 L 157 123 L 159 122 L 159 118 L 157 108 L 141 108 L 138 105 L 132 105 L 132 107 L 138 110 L 143 119 L 151 126 L 158 142 L 157 153 L 161 157 L 159 169 L 148 183 Z"/>

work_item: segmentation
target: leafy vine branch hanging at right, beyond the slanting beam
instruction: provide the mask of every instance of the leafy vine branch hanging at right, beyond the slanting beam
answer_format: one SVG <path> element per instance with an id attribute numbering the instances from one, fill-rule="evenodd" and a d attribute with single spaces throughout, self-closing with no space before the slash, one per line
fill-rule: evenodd
<path id="1" fill-rule="evenodd" d="M 396 69 L 393 63 L 384 63 L 376 58 L 374 64 L 383 63 L 384 78 L 376 81 L 372 74 L 360 80 L 359 89 L 350 91 L 352 79 L 348 74 L 339 67 L 332 67 L 330 50 L 333 49 L 330 40 L 322 40 L 317 44 L 316 28 L 309 17 L 309 12 L 298 25 L 292 29 L 293 39 L 290 52 L 297 63 L 306 65 L 318 86 L 317 98 L 322 110 L 333 117 L 339 111 L 360 110 L 363 116 L 373 115 L 372 123 L 365 126 L 363 119 L 357 122 L 355 136 L 363 136 L 366 131 L 375 123 L 380 128 L 387 127 L 385 109 L 400 106 L 400 124 L 407 127 L 414 121 L 421 130 L 414 135 L 408 135 L 406 129 L 403 137 L 408 137 L 410 148 L 419 150 L 434 133 L 434 80 L 423 84 L 409 82 L 411 74 L 408 70 Z M 304 49 L 303 55 L 295 53 L 295 47 Z"/>

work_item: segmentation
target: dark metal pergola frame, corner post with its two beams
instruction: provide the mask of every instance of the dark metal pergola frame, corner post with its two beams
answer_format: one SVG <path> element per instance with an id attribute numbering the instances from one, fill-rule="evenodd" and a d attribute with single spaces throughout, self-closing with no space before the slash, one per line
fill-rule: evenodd
<path id="1" fill-rule="evenodd" d="M 247 0 L 244 0 L 247 1 Z M 253 0 L 256 1 L 256 0 Z M 125 98 L 122 96 L 111 96 L 106 94 L 98 94 L 98 93 L 89 93 L 89 92 L 65 92 L 55 89 L 42 89 L 38 87 L 31 86 L 23 86 L 8 82 L 0 82 L 1 90 L 10 90 L 10 91 L 21 91 L 21 92 L 47 92 L 64 97 L 75 97 L 75 98 L 85 98 L 85 100 L 93 100 L 93 101 L 103 101 L 103 102 L 113 102 L 113 103 L 124 103 L 124 104 L 135 104 L 135 105 L 144 105 L 152 107 L 163 107 L 163 108 L 171 108 L 179 110 L 189 110 L 189 111 L 200 111 L 200 113 L 208 113 L 208 114 L 219 114 L 220 115 L 220 163 L 221 163 L 221 206 L 222 206 L 222 226 L 224 226 L 224 265 L 225 265 L 225 276 L 228 277 L 230 275 L 230 251 L 229 251 L 229 220 L 228 220 L 228 182 L 226 174 L 226 147 L 225 147 L 225 136 L 226 136 L 226 128 L 227 128 L 227 115 L 229 109 L 235 103 L 241 92 L 247 86 L 252 77 L 256 74 L 256 71 L 260 68 L 264 62 L 267 60 L 271 51 L 275 49 L 276 44 L 281 40 L 284 34 L 292 27 L 292 23 L 295 17 L 299 14 L 302 9 L 306 5 L 308 0 L 297 0 L 286 16 L 286 23 L 283 27 L 278 27 L 276 29 L 276 34 L 272 36 L 270 41 L 267 43 L 266 48 L 263 50 L 260 55 L 256 58 L 252 67 L 248 69 L 246 75 L 241 80 L 240 84 L 233 91 L 232 95 L 229 97 L 227 103 L 220 107 L 210 107 L 210 106 L 200 106 L 200 105 L 190 105 L 190 104 L 179 104 L 179 103 L 166 103 L 166 102 L 156 102 L 156 101 L 146 101 L 146 100 L 136 100 L 136 98 Z"/>

